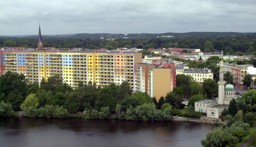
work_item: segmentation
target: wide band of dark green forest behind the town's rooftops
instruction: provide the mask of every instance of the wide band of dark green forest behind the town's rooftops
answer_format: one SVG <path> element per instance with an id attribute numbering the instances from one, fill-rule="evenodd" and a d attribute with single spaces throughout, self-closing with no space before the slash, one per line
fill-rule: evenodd
<path id="1" fill-rule="evenodd" d="M 245 52 L 256 54 L 256 34 L 219 37 L 177 37 L 177 38 L 118 38 L 114 41 L 90 38 L 44 38 L 44 47 L 56 48 L 87 48 L 116 49 L 127 48 L 193 48 L 204 52 L 221 51 L 227 54 Z M 36 38 L 0 38 L 0 46 L 4 47 L 37 47 Z"/>

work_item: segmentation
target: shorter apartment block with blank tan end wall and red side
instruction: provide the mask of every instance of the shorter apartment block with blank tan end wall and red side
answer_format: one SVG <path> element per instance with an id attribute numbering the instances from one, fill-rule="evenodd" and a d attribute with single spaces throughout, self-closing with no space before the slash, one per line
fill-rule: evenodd
<path id="1" fill-rule="evenodd" d="M 158 101 L 161 96 L 173 90 L 176 86 L 174 64 L 148 65 L 136 64 L 135 90 L 148 93 Z"/>

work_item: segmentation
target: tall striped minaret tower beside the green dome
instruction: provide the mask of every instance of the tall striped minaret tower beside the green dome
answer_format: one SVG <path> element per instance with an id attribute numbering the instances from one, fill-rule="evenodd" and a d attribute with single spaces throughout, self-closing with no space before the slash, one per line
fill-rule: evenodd
<path id="1" fill-rule="evenodd" d="M 225 81 L 224 81 L 224 71 L 223 71 L 223 59 L 220 60 L 220 71 L 219 71 L 220 80 L 218 81 L 219 85 L 219 97 L 218 97 L 218 104 L 223 104 L 225 98 Z"/>

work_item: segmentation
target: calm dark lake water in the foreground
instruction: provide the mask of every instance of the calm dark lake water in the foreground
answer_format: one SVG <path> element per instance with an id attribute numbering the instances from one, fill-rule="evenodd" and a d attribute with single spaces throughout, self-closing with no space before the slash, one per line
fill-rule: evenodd
<path id="1" fill-rule="evenodd" d="M 1 147 L 201 146 L 216 128 L 196 122 L 0 117 Z"/>

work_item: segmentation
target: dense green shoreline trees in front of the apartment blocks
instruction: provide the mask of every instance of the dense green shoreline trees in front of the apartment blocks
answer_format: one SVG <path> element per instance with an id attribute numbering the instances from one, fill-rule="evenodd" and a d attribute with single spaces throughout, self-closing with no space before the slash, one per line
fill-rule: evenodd
<path id="1" fill-rule="evenodd" d="M 83 117 L 105 119 L 120 106 L 120 119 L 170 120 L 173 109 L 181 109 L 182 95 L 178 90 L 167 93 L 160 103 L 147 93 L 132 93 L 128 82 L 114 83 L 106 87 L 95 83 L 79 84 L 73 89 L 62 82 L 60 76 L 27 84 L 23 74 L 7 72 L 0 76 L 1 115 L 12 115 L 13 110 L 24 111 L 28 117 Z M 163 99 L 163 98 L 162 98 Z M 168 104 L 168 105 L 167 105 Z M 164 108 L 162 108 L 164 105 Z M 77 112 L 86 113 L 75 115 Z M 134 116 L 130 117 L 130 112 Z M 119 114 L 119 113 L 118 113 Z"/>

